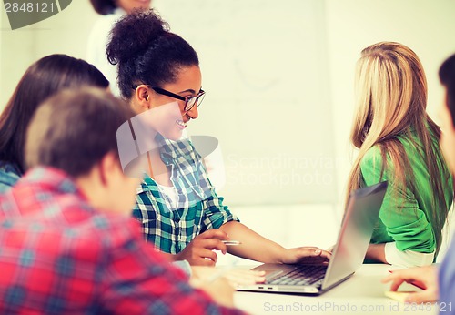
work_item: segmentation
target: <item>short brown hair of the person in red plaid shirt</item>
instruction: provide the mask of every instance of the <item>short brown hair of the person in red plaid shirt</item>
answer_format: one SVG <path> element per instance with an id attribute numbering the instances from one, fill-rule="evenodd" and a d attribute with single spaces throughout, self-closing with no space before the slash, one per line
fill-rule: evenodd
<path id="1" fill-rule="evenodd" d="M 47 99 L 30 121 L 26 164 L 58 168 L 73 178 L 85 175 L 107 153 L 118 157 L 116 131 L 133 116 L 125 101 L 106 90 L 83 87 L 60 92 Z"/>

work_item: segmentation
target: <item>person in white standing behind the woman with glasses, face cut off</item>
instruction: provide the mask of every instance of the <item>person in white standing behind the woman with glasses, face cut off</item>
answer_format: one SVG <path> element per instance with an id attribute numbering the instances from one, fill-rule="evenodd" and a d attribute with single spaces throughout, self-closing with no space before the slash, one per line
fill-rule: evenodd
<path id="1" fill-rule="evenodd" d="M 131 13 L 135 9 L 147 9 L 151 0 L 90 0 L 96 13 L 102 15 L 93 26 L 88 36 L 86 60 L 96 66 L 109 80 L 111 91 L 120 96 L 116 82 L 116 66 L 107 61 L 106 46 L 112 26 L 123 15 Z"/>

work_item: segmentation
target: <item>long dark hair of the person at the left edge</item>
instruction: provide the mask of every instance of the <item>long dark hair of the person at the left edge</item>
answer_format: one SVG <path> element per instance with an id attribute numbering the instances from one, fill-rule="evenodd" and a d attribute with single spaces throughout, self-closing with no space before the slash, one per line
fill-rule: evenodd
<path id="1" fill-rule="evenodd" d="M 29 66 L 0 116 L 0 160 L 25 171 L 25 130 L 36 107 L 67 87 L 99 86 L 109 81 L 82 59 L 66 55 L 45 56 Z"/>

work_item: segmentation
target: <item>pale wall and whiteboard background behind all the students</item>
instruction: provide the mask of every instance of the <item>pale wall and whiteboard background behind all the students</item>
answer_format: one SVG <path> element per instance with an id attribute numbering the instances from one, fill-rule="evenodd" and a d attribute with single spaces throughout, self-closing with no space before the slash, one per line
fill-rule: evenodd
<path id="1" fill-rule="evenodd" d="M 425 68 L 428 110 L 438 121 L 438 68 L 455 53 L 452 0 L 153 0 L 153 6 L 199 55 L 207 97 L 187 132 L 219 141 L 212 157 L 218 195 L 248 227 L 280 244 L 326 248 L 336 240 L 356 154 L 349 131 L 363 48 L 379 41 L 410 46 Z M 38 58 L 85 58 L 98 18 L 88 0 L 75 0 L 58 15 L 11 31 L 0 12 L 0 109 Z M 445 243 L 452 232 L 444 232 Z"/>

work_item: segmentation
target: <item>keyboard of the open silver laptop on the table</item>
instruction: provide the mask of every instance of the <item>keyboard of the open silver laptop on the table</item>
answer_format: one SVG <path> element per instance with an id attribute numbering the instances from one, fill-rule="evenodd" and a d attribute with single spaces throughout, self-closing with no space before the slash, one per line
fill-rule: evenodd
<path id="1" fill-rule="evenodd" d="M 279 273 L 276 277 L 268 279 L 267 283 L 287 286 L 321 285 L 326 270 L 327 266 L 301 265 L 288 273 Z"/>

